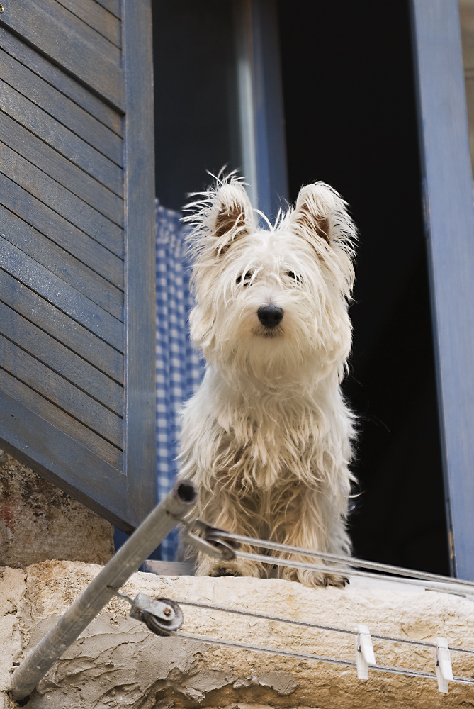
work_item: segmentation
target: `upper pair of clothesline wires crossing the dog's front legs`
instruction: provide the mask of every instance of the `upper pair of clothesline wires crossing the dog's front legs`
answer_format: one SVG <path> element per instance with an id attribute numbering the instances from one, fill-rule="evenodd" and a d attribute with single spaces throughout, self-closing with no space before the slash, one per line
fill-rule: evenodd
<path id="1" fill-rule="evenodd" d="M 234 542 L 242 542 L 249 544 L 252 547 L 261 547 L 262 549 L 273 549 L 292 554 L 301 554 L 304 557 L 314 557 L 315 559 L 324 559 L 328 562 L 337 562 L 346 566 L 358 566 L 360 569 L 371 569 L 372 571 L 382 571 L 384 574 L 396 574 L 397 576 L 408 576 L 412 579 L 422 579 L 424 581 L 439 581 L 444 584 L 452 584 L 453 586 L 473 586 L 474 581 L 466 581 L 463 579 L 454 579 L 453 576 L 441 576 L 441 574 L 431 574 L 429 571 L 414 571 L 414 569 L 405 569 L 403 566 L 392 566 L 391 564 L 380 564 L 378 562 L 367 562 L 364 559 L 356 559 L 354 557 L 344 557 L 342 554 L 329 554 L 327 552 L 314 552 L 312 549 L 301 549 L 300 547 L 292 547 L 278 542 L 269 542 L 267 540 L 256 539 L 254 537 L 244 537 L 239 534 L 231 534 L 219 530 L 219 537 L 223 540 L 231 540 Z M 275 557 L 268 557 L 268 563 Z M 339 569 L 341 573 L 342 569 Z M 393 579 L 400 581 L 400 579 Z M 474 591 L 473 591 L 474 593 Z"/>

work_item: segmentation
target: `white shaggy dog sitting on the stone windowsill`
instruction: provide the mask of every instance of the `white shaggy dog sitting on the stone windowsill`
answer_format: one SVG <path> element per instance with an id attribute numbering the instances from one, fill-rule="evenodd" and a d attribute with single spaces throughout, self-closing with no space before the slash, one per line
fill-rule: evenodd
<path id="1" fill-rule="evenodd" d="M 356 229 L 346 203 L 327 184 L 310 184 L 294 209 L 261 229 L 234 176 L 199 196 L 187 218 L 191 337 L 207 368 L 184 410 L 181 476 L 199 487 L 198 514 L 216 527 L 349 554 L 354 428 L 340 384 L 351 347 Z M 309 586 L 344 583 L 322 562 L 317 569 L 278 573 Z M 197 573 L 266 571 L 199 554 Z"/>

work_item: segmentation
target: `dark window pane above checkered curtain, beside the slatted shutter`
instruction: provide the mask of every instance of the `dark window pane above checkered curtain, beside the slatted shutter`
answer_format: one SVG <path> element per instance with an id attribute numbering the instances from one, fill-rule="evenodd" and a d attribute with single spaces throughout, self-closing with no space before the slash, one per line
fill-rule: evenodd
<path id="1" fill-rule="evenodd" d="M 239 167 L 232 2 L 155 0 L 155 183 L 163 206 L 181 210 L 227 165 Z"/>

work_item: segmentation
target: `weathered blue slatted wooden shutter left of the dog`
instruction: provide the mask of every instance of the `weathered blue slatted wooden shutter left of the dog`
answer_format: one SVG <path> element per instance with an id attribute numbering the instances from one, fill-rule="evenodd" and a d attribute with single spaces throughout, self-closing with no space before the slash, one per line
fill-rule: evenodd
<path id="1" fill-rule="evenodd" d="M 0 445 L 123 530 L 154 504 L 149 0 L 0 14 Z"/>

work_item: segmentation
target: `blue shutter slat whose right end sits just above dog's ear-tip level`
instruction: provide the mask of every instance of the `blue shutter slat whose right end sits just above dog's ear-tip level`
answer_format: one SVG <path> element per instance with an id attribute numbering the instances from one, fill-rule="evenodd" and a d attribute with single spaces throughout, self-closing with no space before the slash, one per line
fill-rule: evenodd
<path id="1" fill-rule="evenodd" d="M 109 160 L 122 166 L 123 141 L 118 135 L 2 50 L 0 76 L 6 84 L 39 108 L 43 108 L 79 138 L 83 138 Z"/>

